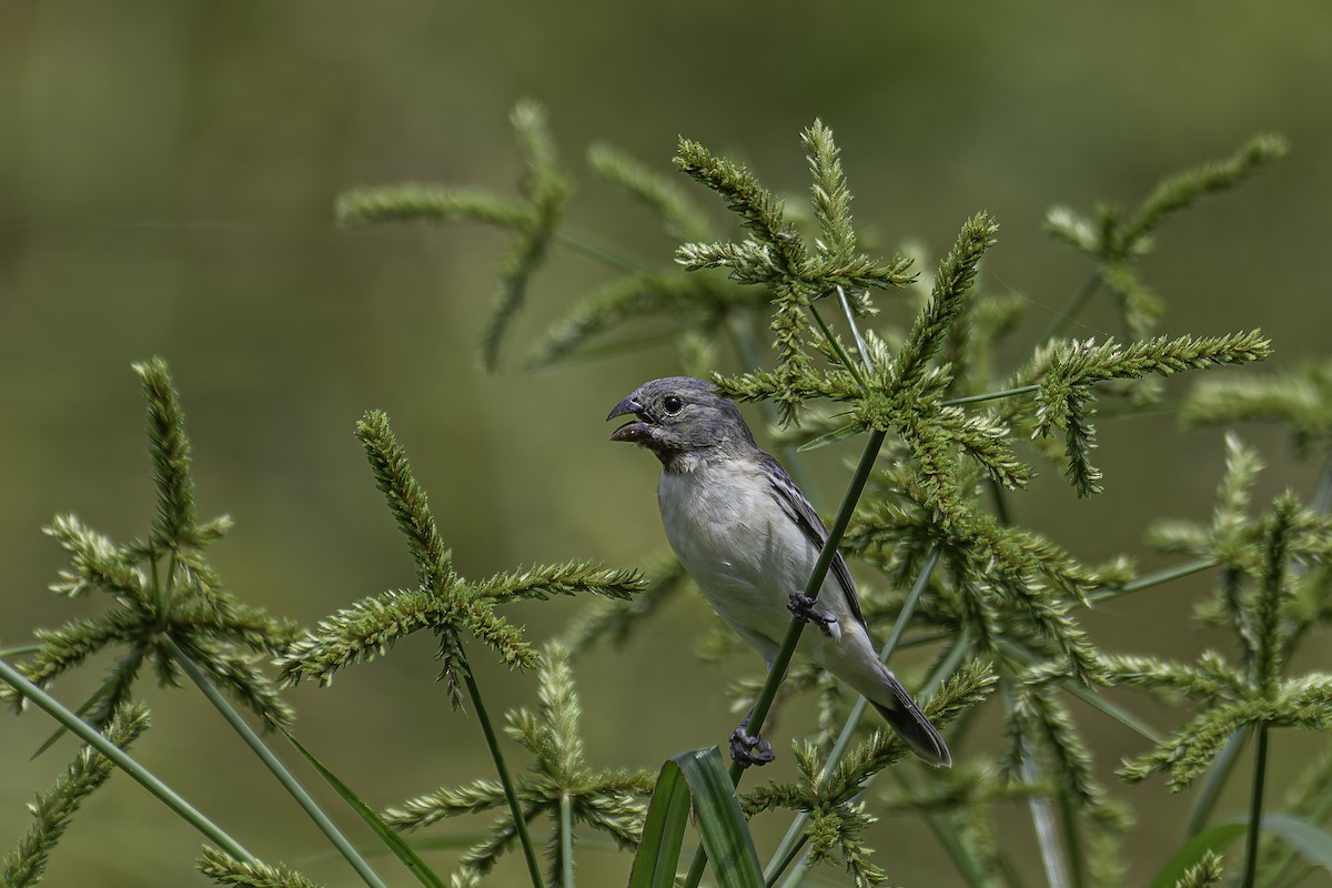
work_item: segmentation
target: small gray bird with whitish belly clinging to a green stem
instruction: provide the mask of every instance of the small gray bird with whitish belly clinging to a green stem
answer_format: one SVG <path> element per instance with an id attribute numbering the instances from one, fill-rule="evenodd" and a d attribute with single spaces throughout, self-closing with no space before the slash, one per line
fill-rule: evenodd
<path id="1" fill-rule="evenodd" d="M 819 631 L 802 634 L 799 652 L 868 699 L 922 759 L 951 766 L 943 738 L 875 654 L 840 553 L 818 600 L 805 596 L 827 529 L 786 470 L 754 443 L 735 403 L 710 382 L 670 377 L 641 386 L 606 421 L 626 415 L 635 419 L 610 439 L 647 447 L 661 461 L 666 538 L 717 612 L 769 666 L 791 614 L 814 623 Z M 743 764 L 771 760 L 746 723 L 731 736 L 731 755 Z"/>

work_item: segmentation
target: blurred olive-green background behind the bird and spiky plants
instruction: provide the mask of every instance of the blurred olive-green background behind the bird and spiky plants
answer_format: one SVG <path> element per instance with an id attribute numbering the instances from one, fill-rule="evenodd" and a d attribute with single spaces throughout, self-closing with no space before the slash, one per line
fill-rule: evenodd
<path id="1" fill-rule="evenodd" d="M 1332 7 L 1312 0 L 7 0 L 0 644 L 101 606 L 44 591 L 63 560 L 39 531 L 53 514 L 76 511 L 117 539 L 147 529 L 152 487 L 129 363 L 153 354 L 169 361 L 184 397 L 201 511 L 237 522 L 216 563 L 241 598 L 274 612 L 309 623 L 412 582 L 352 437 L 370 407 L 392 415 L 466 575 L 567 558 L 637 564 L 663 545 L 655 465 L 607 445 L 602 417 L 643 379 L 677 371 L 673 349 L 535 375 L 515 369 L 525 345 L 605 269 L 557 252 L 534 281 L 507 365 L 485 375 L 476 343 L 506 236 L 332 222 L 334 197 L 362 184 L 514 193 L 507 112 L 519 97 L 546 104 L 579 178 L 571 226 L 663 265 L 674 244 L 586 174 L 591 142 L 669 169 L 677 134 L 687 134 L 798 193 L 799 130 L 822 117 L 843 149 L 856 218 L 886 249 L 915 237 L 938 256 L 967 216 L 998 217 L 983 285 L 1030 301 L 1022 347 L 1088 270 L 1042 233 L 1048 206 L 1132 205 L 1164 173 L 1228 154 L 1256 132 L 1281 133 L 1288 158 L 1172 220 L 1146 265 L 1169 301 L 1163 332 L 1263 326 L 1277 347 L 1256 370 L 1265 373 L 1321 358 L 1332 321 L 1328 84 Z M 1099 317 L 1108 324 L 1094 312 L 1078 334 L 1099 335 Z M 1309 491 L 1315 467 L 1295 463 L 1271 433 L 1245 434 L 1271 465 L 1264 494 Z M 827 479 L 825 510 L 847 454 L 813 458 Z M 1075 502 L 1046 470 L 1016 518 L 1102 558 L 1140 553 L 1151 517 L 1208 514 L 1217 435 L 1183 435 L 1169 417 L 1104 423 L 1099 455 L 1106 495 Z M 1185 654 L 1211 638 L 1184 622 L 1204 583 L 1122 602 L 1090 623 L 1115 650 Z M 543 639 L 579 604 L 517 618 Z M 594 762 L 655 767 L 730 731 L 719 688 L 758 663 L 695 662 L 693 639 L 709 619 L 697 599 L 681 599 L 651 638 L 579 660 Z M 328 691 L 293 695 L 301 736 L 373 804 L 485 772 L 476 723 L 448 711 L 430 654 L 429 640 L 413 640 Z M 95 671 L 57 692 L 83 699 Z M 489 664 L 480 678 L 493 711 L 534 703 L 526 678 Z M 253 851 L 350 884 L 336 861 L 309 857 L 322 848 L 313 829 L 194 696 L 149 695 L 156 727 L 139 755 Z M 1132 702 L 1163 726 L 1175 715 Z M 1143 750 L 1118 726 L 1079 715 L 1107 777 Z M 73 748 L 67 740 L 29 762 L 51 730 L 36 712 L 0 719 L 3 845 L 27 828 L 24 804 Z M 786 747 L 781 724 L 774 740 Z M 1277 785 L 1323 746 L 1289 732 L 1273 743 Z M 201 883 L 188 875 L 198 839 L 123 776 L 112 783 L 76 819 L 48 884 Z M 1135 884 L 1167 853 L 1187 808 L 1159 781 L 1120 795 L 1140 815 L 1128 841 Z M 1030 820 L 1010 817 L 1003 835 L 1030 847 Z M 894 880 L 948 884 L 931 875 L 942 857 L 920 824 L 887 820 L 878 847 Z M 1035 859 L 1018 856 L 1035 876 Z M 621 884 L 627 864 L 595 849 L 579 857 L 585 884 Z"/>

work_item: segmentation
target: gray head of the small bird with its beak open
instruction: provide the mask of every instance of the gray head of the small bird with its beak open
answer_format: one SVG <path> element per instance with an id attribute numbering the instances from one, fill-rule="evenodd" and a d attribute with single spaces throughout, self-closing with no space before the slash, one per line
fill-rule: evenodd
<path id="1" fill-rule="evenodd" d="M 754 437 L 735 402 L 711 382 L 669 377 L 645 382 L 606 417 L 634 417 L 610 435 L 647 447 L 670 467 L 681 455 L 705 457 L 754 449 Z"/>

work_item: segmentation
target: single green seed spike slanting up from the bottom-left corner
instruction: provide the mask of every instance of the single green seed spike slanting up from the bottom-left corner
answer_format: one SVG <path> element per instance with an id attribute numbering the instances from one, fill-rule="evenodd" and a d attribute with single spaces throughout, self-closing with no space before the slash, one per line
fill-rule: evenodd
<path id="1" fill-rule="evenodd" d="M 148 728 L 148 708 L 141 703 L 125 703 L 112 712 L 107 722 L 107 739 L 127 748 Z M 28 835 L 5 855 L 0 873 L 8 888 L 27 888 L 41 881 L 47 860 L 60 836 L 69 825 L 84 800 L 111 777 L 111 760 L 91 746 L 79 750 L 69 768 L 49 792 L 39 792 L 32 811 L 33 824 Z"/>

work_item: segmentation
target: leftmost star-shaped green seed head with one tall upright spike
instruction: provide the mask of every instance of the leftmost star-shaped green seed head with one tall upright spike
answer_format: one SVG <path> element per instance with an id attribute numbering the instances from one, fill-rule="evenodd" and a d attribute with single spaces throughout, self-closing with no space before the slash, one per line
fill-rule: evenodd
<path id="1" fill-rule="evenodd" d="M 170 639 L 245 707 L 288 723 L 294 714 L 258 663 L 261 655 L 278 654 L 296 627 L 241 603 L 221 584 L 205 549 L 222 537 L 230 519 L 222 515 L 198 522 L 185 417 L 166 363 L 153 358 L 136 363 L 135 373 L 148 402 L 148 445 L 157 487 L 152 530 L 145 539 L 115 543 L 75 515 L 57 515 L 44 529 L 71 559 L 51 590 L 68 598 L 100 592 L 113 606 L 99 616 L 37 630 L 39 648 L 20 668 L 45 688 L 104 648 L 124 647 L 81 707 L 84 718 L 103 728 L 132 699 L 145 663 L 153 666 L 161 684 L 177 683 L 178 664 L 165 643 Z M 16 708 L 24 704 L 8 686 L 0 686 L 0 698 Z"/>

